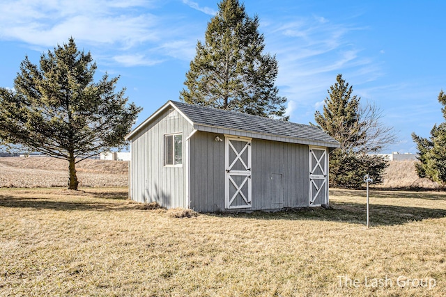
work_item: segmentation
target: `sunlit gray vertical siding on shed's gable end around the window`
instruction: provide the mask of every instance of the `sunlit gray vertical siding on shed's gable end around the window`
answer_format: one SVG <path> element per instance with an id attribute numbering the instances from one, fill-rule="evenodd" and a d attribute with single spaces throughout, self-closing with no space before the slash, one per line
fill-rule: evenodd
<path id="1" fill-rule="evenodd" d="M 192 125 L 185 118 L 171 117 L 167 110 L 132 137 L 132 200 L 188 207 L 185 140 L 191 132 Z M 173 133 L 183 134 L 182 167 L 164 166 L 164 134 Z"/>

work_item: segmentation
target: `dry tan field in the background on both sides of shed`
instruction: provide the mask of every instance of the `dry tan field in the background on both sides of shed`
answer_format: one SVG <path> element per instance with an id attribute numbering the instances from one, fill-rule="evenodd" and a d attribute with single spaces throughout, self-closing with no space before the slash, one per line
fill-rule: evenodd
<path id="1" fill-rule="evenodd" d="M 429 179 L 420 179 L 413 161 L 392 161 L 384 182 L 376 188 L 443 189 Z M 77 164 L 80 186 L 128 186 L 127 161 L 84 160 Z M 362 177 L 358 177 L 361 178 Z M 66 186 L 68 162 L 47 158 L 0 158 L 0 187 Z"/>

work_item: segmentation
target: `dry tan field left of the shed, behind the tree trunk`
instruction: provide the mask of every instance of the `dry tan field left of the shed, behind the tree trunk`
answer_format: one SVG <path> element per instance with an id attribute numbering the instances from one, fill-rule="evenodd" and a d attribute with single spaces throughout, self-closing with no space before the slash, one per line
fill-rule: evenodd
<path id="1" fill-rule="evenodd" d="M 86 159 L 76 164 L 80 187 L 128 186 L 128 162 Z M 0 187 L 67 186 L 68 161 L 49 157 L 0 158 Z"/>

